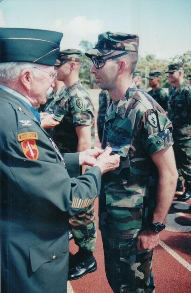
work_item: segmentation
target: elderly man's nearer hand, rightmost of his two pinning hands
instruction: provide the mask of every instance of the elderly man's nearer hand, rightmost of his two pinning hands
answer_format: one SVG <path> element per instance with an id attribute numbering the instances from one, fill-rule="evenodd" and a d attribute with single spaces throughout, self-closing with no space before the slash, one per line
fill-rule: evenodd
<path id="1" fill-rule="evenodd" d="M 111 155 L 111 151 L 112 149 L 107 147 L 96 159 L 94 166 L 98 166 L 101 169 L 101 174 L 115 170 L 119 166 L 120 156 L 118 154 Z"/>

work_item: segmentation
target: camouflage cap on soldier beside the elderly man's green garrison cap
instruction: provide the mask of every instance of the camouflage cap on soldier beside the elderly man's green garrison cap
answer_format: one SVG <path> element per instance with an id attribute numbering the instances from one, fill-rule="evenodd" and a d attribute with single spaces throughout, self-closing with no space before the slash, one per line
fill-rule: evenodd
<path id="1" fill-rule="evenodd" d="M 60 51 L 55 66 L 62 65 L 66 61 L 82 63 L 82 52 L 76 49 L 67 49 L 64 51 Z"/>

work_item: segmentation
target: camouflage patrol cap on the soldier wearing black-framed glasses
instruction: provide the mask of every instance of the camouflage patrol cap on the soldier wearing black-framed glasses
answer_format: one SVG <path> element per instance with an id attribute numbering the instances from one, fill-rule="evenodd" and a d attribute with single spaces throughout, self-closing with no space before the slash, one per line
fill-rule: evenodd
<path id="1" fill-rule="evenodd" d="M 87 51 L 88 58 L 92 56 L 106 56 L 115 51 L 138 52 L 139 38 L 127 33 L 106 32 L 98 36 L 96 46 Z"/>

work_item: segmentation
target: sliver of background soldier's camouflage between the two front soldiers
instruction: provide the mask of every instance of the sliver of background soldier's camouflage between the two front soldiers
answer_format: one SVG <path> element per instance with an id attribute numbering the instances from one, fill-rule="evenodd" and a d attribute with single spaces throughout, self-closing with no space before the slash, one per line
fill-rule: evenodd
<path id="1" fill-rule="evenodd" d="M 104 130 L 104 121 L 105 121 L 105 112 L 107 106 L 109 105 L 110 97 L 107 90 L 101 90 L 99 94 L 99 109 L 98 109 L 98 118 L 97 118 L 97 127 L 98 127 L 98 137 L 101 142 Z"/>

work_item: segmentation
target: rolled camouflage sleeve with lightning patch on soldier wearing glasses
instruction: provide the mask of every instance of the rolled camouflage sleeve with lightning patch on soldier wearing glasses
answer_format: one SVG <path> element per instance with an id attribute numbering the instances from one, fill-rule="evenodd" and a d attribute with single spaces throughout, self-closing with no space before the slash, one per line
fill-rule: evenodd
<path id="1" fill-rule="evenodd" d="M 173 145 L 172 123 L 165 113 L 155 109 L 147 110 L 140 118 L 140 136 L 147 155 Z"/>

